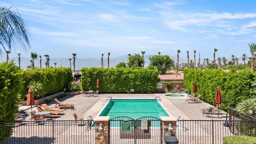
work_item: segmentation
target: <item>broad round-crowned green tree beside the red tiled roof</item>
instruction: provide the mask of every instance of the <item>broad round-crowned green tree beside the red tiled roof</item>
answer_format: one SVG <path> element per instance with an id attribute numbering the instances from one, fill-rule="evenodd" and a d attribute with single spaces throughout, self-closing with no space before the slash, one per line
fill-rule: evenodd
<path id="1" fill-rule="evenodd" d="M 174 67 L 174 60 L 167 55 L 154 55 L 149 57 L 150 64 L 153 68 L 158 70 L 159 74 L 165 74 L 168 68 Z"/>

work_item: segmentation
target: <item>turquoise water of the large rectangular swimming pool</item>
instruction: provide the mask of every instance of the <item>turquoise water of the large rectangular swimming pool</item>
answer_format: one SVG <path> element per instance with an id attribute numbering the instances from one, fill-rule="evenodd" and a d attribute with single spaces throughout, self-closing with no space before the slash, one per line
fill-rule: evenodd
<path id="1" fill-rule="evenodd" d="M 143 116 L 169 116 L 164 108 L 155 99 L 112 99 L 106 105 L 100 116 L 127 116 L 138 119 Z"/>

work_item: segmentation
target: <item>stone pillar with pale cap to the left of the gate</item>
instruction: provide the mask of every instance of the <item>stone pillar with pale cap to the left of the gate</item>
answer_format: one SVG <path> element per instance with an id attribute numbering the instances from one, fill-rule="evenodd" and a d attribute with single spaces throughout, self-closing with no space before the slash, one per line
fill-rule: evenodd
<path id="1" fill-rule="evenodd" d="M 110 116 L 96 116 L 95 122 L 95 144 L 108 144 L 108 121 Z M 102 123 L 102 133 L 99 132 L 100 123 Z"/>

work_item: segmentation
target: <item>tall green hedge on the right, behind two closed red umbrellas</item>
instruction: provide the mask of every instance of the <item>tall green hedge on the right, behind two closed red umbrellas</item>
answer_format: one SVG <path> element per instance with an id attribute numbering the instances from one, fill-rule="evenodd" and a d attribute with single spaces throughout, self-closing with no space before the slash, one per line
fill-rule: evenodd
<path id="1" fill-rule="evenodd" d="M 196 81 L 198 94 L 202 94 L 204 102 L 215 105 L 215 95 L 218 86 L 222 94 L 222 108 L 228 111 L 228 105 L 252 98 L 255 95 L 251 86 L 256 75 L 250 70 L 224 72 L 223 70 L 184 70 L 184 87 L 190 92 L 193 91 L 193 84 Z"/>

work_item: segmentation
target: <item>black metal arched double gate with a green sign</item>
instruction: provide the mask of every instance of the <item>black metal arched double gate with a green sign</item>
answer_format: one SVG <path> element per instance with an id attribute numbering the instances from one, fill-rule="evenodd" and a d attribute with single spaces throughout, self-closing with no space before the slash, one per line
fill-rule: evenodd
<path id="1" fill-rule="evenodd" d="M 162 144 L 162 120 L 145 116 L 109 120 L 109 144 Z"/>

